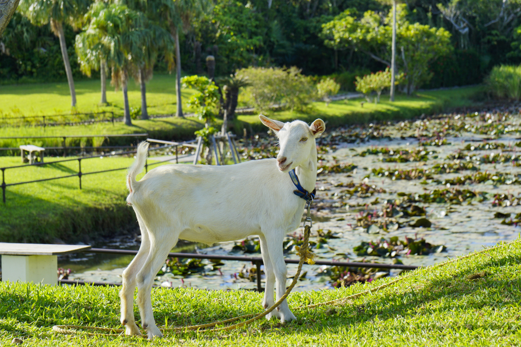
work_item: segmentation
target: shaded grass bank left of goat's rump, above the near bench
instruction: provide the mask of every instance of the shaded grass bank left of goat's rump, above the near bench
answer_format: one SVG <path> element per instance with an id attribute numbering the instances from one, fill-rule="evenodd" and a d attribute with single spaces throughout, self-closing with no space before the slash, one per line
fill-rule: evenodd
<path id="1" fill-rule="evenodd" d="M 41 184 L 39 189 L 61 196 L 59 203 L 20 194 L 8 187 L 6 204 L 0 209 L 0 242 L 54 243 L 59 238 L 66 243 L 90 243 L 96 237 L 114 236 L 138 227 L 134 210 L 125 204 L 124 195 L 119 200 L 108 190 L 83 189 L 82 194 L 97 194 L 106 199 L 94 204 L 84 202 L 80 194 L 63 194 L 63 184 L 58 181 L 31 184 Z"/>

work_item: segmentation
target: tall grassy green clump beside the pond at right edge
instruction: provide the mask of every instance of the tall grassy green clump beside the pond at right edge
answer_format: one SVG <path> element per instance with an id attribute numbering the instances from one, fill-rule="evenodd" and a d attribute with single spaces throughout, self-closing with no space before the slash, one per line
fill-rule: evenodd
<path id="1" fill-rule="evenodd" d="M 485 82 L 487 91 L 494 97 L 521 99 L 521 66 L 494 66 Z"/>

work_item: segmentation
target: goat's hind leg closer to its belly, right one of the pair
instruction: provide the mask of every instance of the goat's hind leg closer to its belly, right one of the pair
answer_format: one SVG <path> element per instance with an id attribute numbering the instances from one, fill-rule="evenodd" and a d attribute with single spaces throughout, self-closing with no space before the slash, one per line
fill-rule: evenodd
<path id="1" fill-rule="evenodd" d="M 156 336 L 163 337 L 156 326 L 152 311 L 152 284 L 154 284 L 157 272 L 165 263 L 168 252 L 177 243 L 177 237 L 172 239 L 168 232 L 164 232 L 162 236 L 156 236 L 151 240 L 150 252 L 138 274 L 138 306 L 141 314 L 141 325 L 146 329 L 148 339 L 153 339 Z"/>

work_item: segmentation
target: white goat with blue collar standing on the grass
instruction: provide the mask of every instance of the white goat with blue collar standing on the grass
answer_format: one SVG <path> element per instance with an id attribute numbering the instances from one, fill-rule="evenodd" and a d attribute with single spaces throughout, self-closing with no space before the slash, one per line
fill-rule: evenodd
<path id="1" fill-rule="evenodd" d="M 324 121 L 311 127 L 300 120 L 282 123 L 259 116 L 277 133 L 277 159 L 253 160 L 229 166 L 165 165 L 148 172 L 139 182 L 148 143 L 142 142 L 129 169 L 127 202 L 138 217 L 141 247 L 123 271 L 121 324 L 126 334 L 141 334 L 134 320 L 134 290 L 138 286 L 141 324 L 149 339 L 162 336 L 152 312 L 151 290 L 157 271 L 178 239 L 213 244 L 258 235 L 266 272 L 263 305 L 271 307 L 274 284 L 277 300 L 286 291 L 287 268 L 282 254 L 284 236 L 300 224 L 306 201 L 293 194 L 288 172 L 311 192 L 317 177 L 315 138 L 325 130 Z M 287 301 L 267 318 L 282 322 L 295 319 Z"/>

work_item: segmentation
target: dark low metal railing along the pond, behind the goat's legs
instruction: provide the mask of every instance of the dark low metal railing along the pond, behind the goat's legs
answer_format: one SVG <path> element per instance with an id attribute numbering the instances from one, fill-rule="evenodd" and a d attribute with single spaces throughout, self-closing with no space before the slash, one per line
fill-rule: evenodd
<path id="1" fill-rule="evenodd" d="M 114 250 L 105 248 L 91 248 L 84 252 L 88 253 L 105 253 L 105 254 L 138 254 L 134 250 Z M 191 259 L 216 259 L 225 261 L 251 262 L 256 267 L 257 271 L 257 291 L 262 292 L 264 289 L 261 285 L 261 265 L 264 264 L 262 257 L 239 257 L 233 255 L 214 255 L 214 254 L 197 254 L 197 253 L 168 253 L 169 257 L 174 258 L 191 258 Z M 299 264 L 299 259 L 284 259 L 286 264 Z M 304 263 L 307 264 L 307 263 Z M 362 268 L 377 268 L 377 269 L 398 269 L 398 270 L 415 270 L 419 266 L 403 265 L 403 264 L 379 264 L 379 263 L 361 263 L 361 262 L 337 262 L 337 261 L 315 261 L 315 265 L 326 266 L 343 266 L 343 267 L 362 267 Z M 111 282 L 87 282 L 80 280 L 59 280 L 61 284 L 89 284 L 91 286 L 121 286 L 121 283 Z"/>

